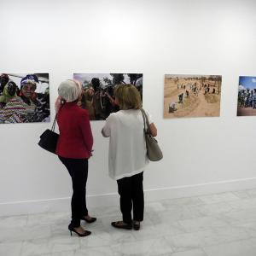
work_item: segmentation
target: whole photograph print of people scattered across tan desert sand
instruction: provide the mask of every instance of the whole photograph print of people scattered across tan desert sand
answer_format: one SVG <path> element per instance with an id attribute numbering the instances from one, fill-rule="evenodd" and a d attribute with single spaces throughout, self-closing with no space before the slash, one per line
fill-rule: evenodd
<path id="1" fill-rule="evenodd" d="M 219 116 L 221 76 L 165 75 L 164 118 Z"/>

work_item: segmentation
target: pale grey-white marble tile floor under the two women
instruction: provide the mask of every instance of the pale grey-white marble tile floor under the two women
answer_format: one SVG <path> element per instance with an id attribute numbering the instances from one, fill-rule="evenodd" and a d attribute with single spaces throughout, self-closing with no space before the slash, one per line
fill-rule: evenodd
<path id="1" fill-rule="evenodd" d="M 255 256 L 256 189 L 154 201 L 142 228 L 116 230 L 119 207 L 97 207 L 92 235 L 67 230 L 70 212 L 0 218 L 1 256 Z"/>

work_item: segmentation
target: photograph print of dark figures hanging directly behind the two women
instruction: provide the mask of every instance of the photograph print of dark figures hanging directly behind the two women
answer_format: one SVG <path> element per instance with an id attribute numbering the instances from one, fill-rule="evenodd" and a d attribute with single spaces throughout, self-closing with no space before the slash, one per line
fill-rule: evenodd
<path id="1" fill-rule="evenodd" d="M 105 120 L 110 113 L 119 110 L 113 96 L 118 84 L 135 85 L 143 99 L 142 73 L 74 73 L 73 79 L 79 80 L 83 86 L 80 105 L 88 110 L 90 120 Z"/>

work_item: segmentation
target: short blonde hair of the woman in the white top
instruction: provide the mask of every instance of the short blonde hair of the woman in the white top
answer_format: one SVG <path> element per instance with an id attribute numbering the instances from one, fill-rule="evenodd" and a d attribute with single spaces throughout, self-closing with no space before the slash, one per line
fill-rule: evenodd
<path id="1" fill-rule="evenodd" d="M 117 85 L 113 95 L 118 100 L 120 109 L 140 109 L 143 107 L 140 93 L 132 84 Z"/>

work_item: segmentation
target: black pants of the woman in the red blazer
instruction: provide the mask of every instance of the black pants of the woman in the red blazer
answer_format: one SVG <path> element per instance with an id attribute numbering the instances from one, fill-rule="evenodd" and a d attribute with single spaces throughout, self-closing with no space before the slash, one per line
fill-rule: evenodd
<path id="1" fill-rule="evenodd" d="M 88 177 L 88 159 L 71 159 L 59 156 L 62 164 L 72 177 L 73 195 L 71 200 L 73 227 L 80 226 L 80 219 L 88 215 L 86 208 L 86 182 Z"/>

